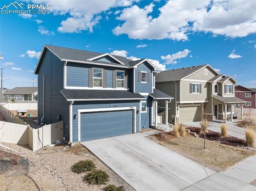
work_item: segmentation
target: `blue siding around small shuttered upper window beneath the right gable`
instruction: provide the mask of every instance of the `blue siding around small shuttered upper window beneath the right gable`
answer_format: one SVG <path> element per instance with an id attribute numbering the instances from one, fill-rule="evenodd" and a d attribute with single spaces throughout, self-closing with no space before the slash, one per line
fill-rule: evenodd
<path id="1" fill-rule="evenodd" d="M 140 71 L 144 71 L 149 74 L 148 83 L 139 82 L 138 73 Z M 138 65 L 138 67 L 135 69 L 135 93 L 153 93 L 152 92 L 152 68 L 145 62 Z"/>

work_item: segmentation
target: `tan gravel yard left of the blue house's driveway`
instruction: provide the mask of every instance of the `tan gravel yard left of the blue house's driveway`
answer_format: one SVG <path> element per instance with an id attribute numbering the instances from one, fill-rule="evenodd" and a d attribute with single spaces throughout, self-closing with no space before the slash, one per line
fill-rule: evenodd
<path id="1" fill-rule="evenodd" d="M 18 165 L 10 165 L 10 161 L 8 161 L 10 157 L 6 156 L 6 152 L 11 154 L 13 154 L 13 152 L 0 146 L 0 153 L 2 152 L 2 157 L 0 157 L 0 171 L 2 172 L 0 173 L 0 187 L 6 191 L 10 190 L 10 185 L 12 186 L 11 190 L 20 190 L 20 186 L 23 183 L 20 184 L 19 181 L 26 181 L 27 189 L 22 190 L 29 190 L 27 184 L 34 186 L 34 190 L 36 190 L 36 183 L 41 191 L 102 191 L 102 188 L 106 185 L 88 185 L 82 181 L 82 177 L 85 173 L 77 174 L 70 170 L 70 167 L 74 163 L 85 159 L 94 161 L 98 169 L 102 169 L 108 173 L 110 176 L 109 184 L 123 186 L 126 191 L 134 191 L 128 183 L 80 144 L 67 150 L 64 150 L 63 146 L 55 146 L 41 149 L 37 152 L 32 152 L 32 150 L 26 146 L 22 147 L 3 142 L 1 142 L 1 144 L 20 152 L 20 156 L 22 157 Z M 8 163 L 8 165 L 6 165 L 6 163 Z M 8 169 L 3 170 L 6 166 Z M 22 168 L 22 171 L 20 168 Z M 14 180 L 12 181 L 12 179 Z M 34 180 L 35 183 L 32 180 Z"/>

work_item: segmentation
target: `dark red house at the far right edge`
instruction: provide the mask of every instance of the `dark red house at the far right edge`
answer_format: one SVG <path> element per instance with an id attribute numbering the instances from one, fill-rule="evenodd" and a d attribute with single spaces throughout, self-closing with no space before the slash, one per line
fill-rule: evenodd
<path id="1" fill-rule="evenodd" d="M 243 105 L 244 108 L 256 108 L 256 91 L 254 89 L 236 85 L 235 96 L 246 101 Z"/>

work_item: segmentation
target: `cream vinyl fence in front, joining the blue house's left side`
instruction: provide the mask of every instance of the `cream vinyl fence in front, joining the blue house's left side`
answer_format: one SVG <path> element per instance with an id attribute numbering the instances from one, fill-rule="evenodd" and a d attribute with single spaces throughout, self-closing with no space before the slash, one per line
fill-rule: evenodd
<path id="1" fill-rule="evenodd" d="M 0 121 L 0 142 L 29 145 L 35 151 L 46 145 L 62 140 L 63 121 L 33 129 L 21 125 Z"/>

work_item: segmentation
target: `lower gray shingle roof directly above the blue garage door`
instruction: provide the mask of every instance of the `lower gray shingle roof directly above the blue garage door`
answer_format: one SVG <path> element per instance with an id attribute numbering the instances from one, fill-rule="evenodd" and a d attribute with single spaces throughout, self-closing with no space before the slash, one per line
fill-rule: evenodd
<path id="1" fill-rule="evenodd" d="M 140 100 L 144 96 L 123 90 L 60 90 L 67 101 L 72 100 Z"/>

